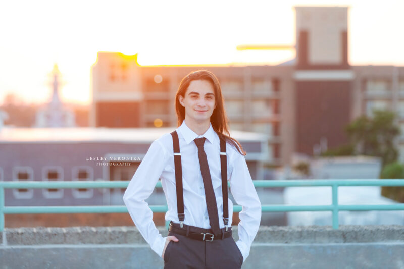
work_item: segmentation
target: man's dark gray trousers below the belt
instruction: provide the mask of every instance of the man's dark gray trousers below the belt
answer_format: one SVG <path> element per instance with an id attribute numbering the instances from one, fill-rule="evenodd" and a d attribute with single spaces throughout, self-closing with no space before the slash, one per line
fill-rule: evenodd
<path id="1" fill-rule="evenodd" d="M 241 268 L 243 257 L 233 237 L 199 241 L 169 232 L 178 242 L 170 241 L 164 253 L 164 269 L 181 268 Z"/>

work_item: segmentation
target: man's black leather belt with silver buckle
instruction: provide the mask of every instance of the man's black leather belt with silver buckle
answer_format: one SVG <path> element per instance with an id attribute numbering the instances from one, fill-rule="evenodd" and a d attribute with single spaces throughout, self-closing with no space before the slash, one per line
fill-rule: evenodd
<path id="1" fill-rule="evenodd" d="M 227 232 L 225 230 L 226 228 L 221 228 L 220 229 L 221 233 L 214 235 L 212 232 L 212 229 L 204 229 L 204 228 L 199 228 L 196 226 L 191 226 L 191 225 L 186 225 L 186 224 L 183 224 L 183 226 L 184 227 L 181 228 L 179 223 L 170 222 L 168 231 L 173 232 L 175 234 L 184 235 L 184 236 L 192 238 L 192 239 L 196 239 L 196 240 L 200 240 L 200 241 L 208 241 L 208 242 L 217 240 L 217 239 L 228 238 L 232 234 L 231 227 L 227 228 Z"/>

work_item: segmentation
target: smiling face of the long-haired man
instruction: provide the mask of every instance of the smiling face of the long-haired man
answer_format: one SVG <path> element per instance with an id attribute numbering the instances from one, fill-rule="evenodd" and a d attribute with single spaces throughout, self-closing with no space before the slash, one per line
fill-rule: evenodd
<path id="1" fill-rule="evenodd" d="M 215 93 L 213 86 L 206 80 L 192 80 L 184 97 L 178 97 L 185 107 L 185 118 L 195 122 L 210 121 L 215 109 Z"/>

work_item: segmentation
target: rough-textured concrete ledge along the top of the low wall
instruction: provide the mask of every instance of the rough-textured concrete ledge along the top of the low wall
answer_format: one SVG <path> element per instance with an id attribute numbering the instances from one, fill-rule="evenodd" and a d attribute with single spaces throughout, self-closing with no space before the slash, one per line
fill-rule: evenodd
<path id="1" fill-rule="evenodd" d="M 165 227 L 157 227 L 167 236 Z M 238 240 L 237 226 L 232 226 Z M 4 238 L 5 237 L 5 238 Z M 5 240 L 3 240 L 3 238 Z M 0 234 L 3 246 L 47 244 L 146 244 L 135 226 L 5 228 Z M 404 226 L 342 225 L 330 226 L 261 226 L 254 243 L 368 243 L 404 242 Z"/>

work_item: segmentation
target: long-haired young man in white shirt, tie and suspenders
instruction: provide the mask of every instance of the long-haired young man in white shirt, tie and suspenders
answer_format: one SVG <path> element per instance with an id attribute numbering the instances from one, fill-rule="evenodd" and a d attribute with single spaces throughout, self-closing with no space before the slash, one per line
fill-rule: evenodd
<path id="1" fill-rule="evenodd" d="M 164 268 L 241 268 L 260 226 L 261 203 L 244 150 L 226 135 L 227 116 L 216 76 L 198 70 L 184 77 L 175 107 L 179 127 L 151 143 L 123 200 L 143 238 L 164 259 Z M 144 201 L 159 178 L 168 205 L 165 219 L 171 221 L 167 237 L 159 233 Z M 237 242 L 231 236 L 228 181 L 243 208 Z"/>

